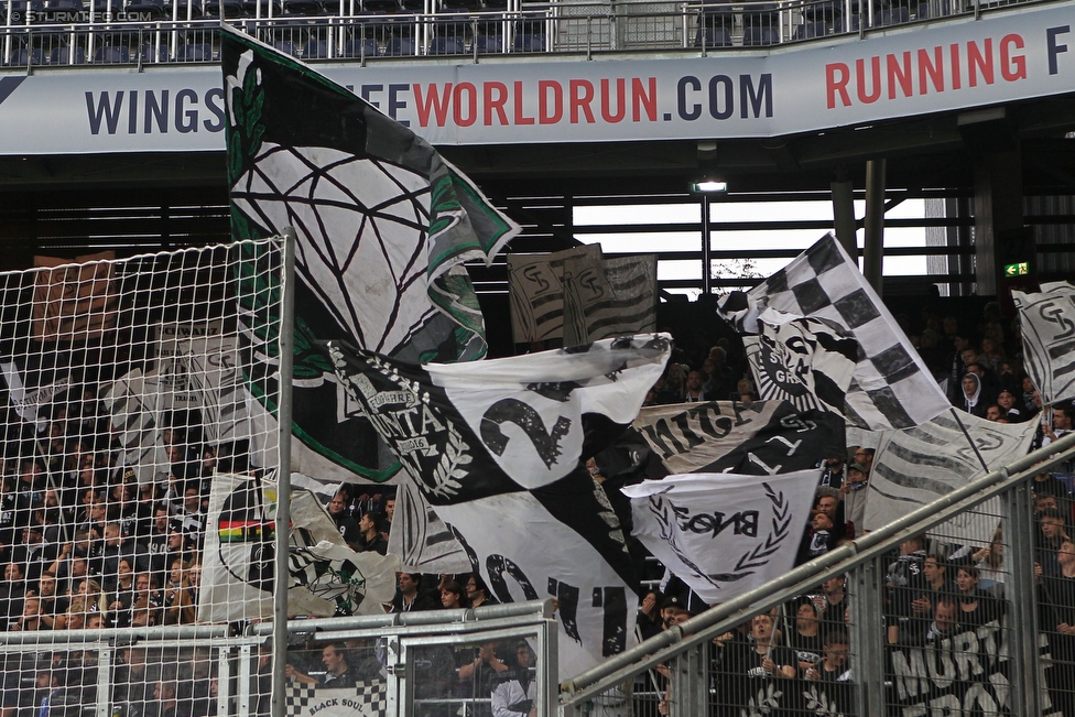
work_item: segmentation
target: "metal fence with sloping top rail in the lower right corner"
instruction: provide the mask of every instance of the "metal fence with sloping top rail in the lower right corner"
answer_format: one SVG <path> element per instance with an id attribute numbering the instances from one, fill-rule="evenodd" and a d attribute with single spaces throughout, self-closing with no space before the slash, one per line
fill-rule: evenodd
<path id="1" fill-rule="evenodd" d="M 1075 435 L 673 624 L 562 715 L 1072 715 Z"/>

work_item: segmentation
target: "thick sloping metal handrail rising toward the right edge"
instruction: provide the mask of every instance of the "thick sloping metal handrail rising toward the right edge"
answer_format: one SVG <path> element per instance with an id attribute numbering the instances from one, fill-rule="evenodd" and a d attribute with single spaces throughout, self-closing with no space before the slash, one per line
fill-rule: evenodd
<path id="1" fill-rule="evenodd" d="M 1075 433 L 1054 441 L 998 470 L 990 471 L 947 496 L 919 508 L 888 525 L 850 541 L 825 555 L 801 565 L 759 588 L 710 608 L 677 627 L 609 658 L 561 685 L 561 706 L 578 703 L 630 677 L 639 670 L 655 666 L 669 658 L 721 634 L 749 615 L 784 601 L 819 582 L 846 573 L 876 555 L 899 546 L 908 535 L 921 533 L 945 522 L 1012 486 L 1033 479 L 1042 470 L 1075 458 Z"/>

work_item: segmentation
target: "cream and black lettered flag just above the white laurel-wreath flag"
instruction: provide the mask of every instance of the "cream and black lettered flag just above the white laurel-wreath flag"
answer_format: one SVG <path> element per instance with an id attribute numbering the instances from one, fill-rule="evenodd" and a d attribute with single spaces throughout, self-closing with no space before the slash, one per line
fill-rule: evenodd
<path id="1" fill-rule="evenodd" d="M 632 424 L 672 474 L 769 476 L 843 455 L 844 420 L 785 401 L 709 401 L 647 406 Z"/>

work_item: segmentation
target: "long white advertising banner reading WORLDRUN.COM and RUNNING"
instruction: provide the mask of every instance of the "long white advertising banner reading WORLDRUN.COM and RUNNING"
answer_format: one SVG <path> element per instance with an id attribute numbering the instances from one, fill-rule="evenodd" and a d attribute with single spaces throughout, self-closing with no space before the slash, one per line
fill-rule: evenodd
<path id="1" fill-rule="evenodd" d="M 773 137 L 1071 93 L 1071 17 L 1020 6 L 709 57 L 318 68 L 433 144 Z M 0 76 L 0 154 L 224 150 L 220 86 L 217 65 Z"/>

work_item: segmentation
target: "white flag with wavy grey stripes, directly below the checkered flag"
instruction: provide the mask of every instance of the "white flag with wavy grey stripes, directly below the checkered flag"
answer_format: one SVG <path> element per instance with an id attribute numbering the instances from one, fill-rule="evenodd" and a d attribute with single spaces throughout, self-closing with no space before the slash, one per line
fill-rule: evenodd
<path id="1" fill-rule="evenodd" d="M 977 454 L 953 412 L 974 438 Z M 978 454 L 990 470 L 1027 455 L 1036 427 L 1033 421 L 993 423 L 951 409 L 914 428 L 880 432 L 870 471 L 865 529 L 877 530 L 986 475 Z M 992 507 L 987 502 L 948 524 L 960 531 L 956 535 L 988 544 L 997 521 L 981 521 L 979 517 L 999 515 L 999 502 Z"/>

